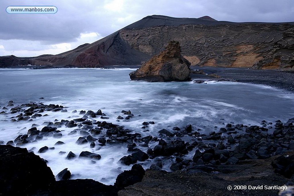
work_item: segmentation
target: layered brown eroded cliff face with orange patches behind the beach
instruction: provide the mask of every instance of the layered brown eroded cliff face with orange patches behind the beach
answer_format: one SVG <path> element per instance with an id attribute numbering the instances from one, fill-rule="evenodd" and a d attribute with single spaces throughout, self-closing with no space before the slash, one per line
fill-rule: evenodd
<path id="1" fill-rule="evenodd" d="M 293 69 L 293 31 L 290 24 L 221 24 L 123 29 L 120 34 L 148 55 L 170 39 L 178 40 L 192 65 Z"/>

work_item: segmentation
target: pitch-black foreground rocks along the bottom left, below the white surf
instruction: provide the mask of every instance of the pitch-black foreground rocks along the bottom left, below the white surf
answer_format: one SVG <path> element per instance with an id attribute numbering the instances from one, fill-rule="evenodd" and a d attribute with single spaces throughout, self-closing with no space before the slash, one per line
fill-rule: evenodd
<path id="1" fill-rule="evenodd" d="M 141 182 L 145 170 L 133 165 L 118 175 L 114 185 L 104 185 L 91 179 L 68 180 L 71 172 L 65 168 L 56 181 L 46 162 L 24 148 L 0 145 L 1 195 L 117 195 L 118 190 Z"/>

